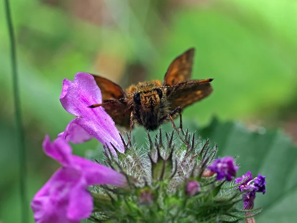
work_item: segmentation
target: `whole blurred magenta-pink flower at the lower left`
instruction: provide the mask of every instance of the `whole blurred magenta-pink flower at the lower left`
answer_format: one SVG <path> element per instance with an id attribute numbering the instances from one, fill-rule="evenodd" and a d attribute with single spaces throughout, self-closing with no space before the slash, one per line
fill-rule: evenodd
<path id="1" fill-rule="evenodd" d="M 93 211 L 89 185 L 125 187 L 127 184 L 126 177 L 121 173 L 72 155 L 70 145 L 61 138 L 51 143 L 49 136 L 46 136 L 43 148 L 62 167 L 50 177 L 31 202 L 36 223 L 79 223 L 90 217 Z"/>

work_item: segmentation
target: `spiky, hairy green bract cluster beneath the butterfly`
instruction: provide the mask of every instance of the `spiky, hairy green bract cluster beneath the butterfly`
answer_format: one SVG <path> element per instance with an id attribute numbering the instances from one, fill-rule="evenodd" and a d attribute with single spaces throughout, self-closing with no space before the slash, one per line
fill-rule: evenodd
<path id="1" fill-rule="evenodd" d="M 153 139 L 148 134 L 147 146 L 130 143 L 117 158 L 104 147 L 105 165 L 124 173 L 129 186 L 91 188 L 95 209 L 90 220 L 223 223 L 239 222 L 247 218 L 247 212 L 249 218 L 260 212 L 242 209 L 239 184 L 217 181 L 213 173 L 209 177 L 203 174 L 209 172 L 206 167 L 212 163 L 217 145 L 195 140 L 188 130 L 184 140 L 188 145 L 175 138 L 174 132 L 162 134 L 160 130 Z M 195 181 L 196 191 L 191 194 L 187 185 Z"/>

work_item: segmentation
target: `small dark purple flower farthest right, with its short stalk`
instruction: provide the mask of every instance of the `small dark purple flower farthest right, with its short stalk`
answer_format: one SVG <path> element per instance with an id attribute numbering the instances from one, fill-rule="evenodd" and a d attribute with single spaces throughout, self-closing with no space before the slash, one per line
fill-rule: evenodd
<path id="1" fill-rule="evenodd" d="M 245 180 L 245 182 L 243 182 Z M 256 197 L 256 192 L 265 193 L 265 176 L 261 176 L 260 174 L 256 178 L 251 177 L 251 172 L 248 171 L 242 177 L 238 177 L 235 179 L 235 183 L 238 184 L 243 182 L 238 186 L 240 191 L 245 191 L 243 194 L 243 206 L 245 210 L 253 209 L 254 199 Z"/>

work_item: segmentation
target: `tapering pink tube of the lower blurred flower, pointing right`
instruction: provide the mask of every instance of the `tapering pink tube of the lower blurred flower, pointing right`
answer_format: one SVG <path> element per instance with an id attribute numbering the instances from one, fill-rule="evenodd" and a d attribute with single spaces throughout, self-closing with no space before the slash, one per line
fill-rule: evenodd
<path id="1" fill-rule="evenodd" d="M 110 184 L 119 187 L 127 185 L 126 177 L 118 171 L 75 155 L 72 159 L 82 168 L 88 185 Z"/>

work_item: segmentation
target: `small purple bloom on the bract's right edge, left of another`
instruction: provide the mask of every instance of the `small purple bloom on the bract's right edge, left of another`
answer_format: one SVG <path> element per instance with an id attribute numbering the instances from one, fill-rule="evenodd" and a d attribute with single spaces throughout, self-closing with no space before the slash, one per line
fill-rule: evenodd
<path id="1" fill-rule="evenodd" d="M 232 157 L 224 157 L 216 159 L 208 169 L 217 173 L 217 180 L 222 180 L 226 177 L 227 181 L 232 180 L 232 176 L 236 175 L 239 167 L 235 166 Z"/>

